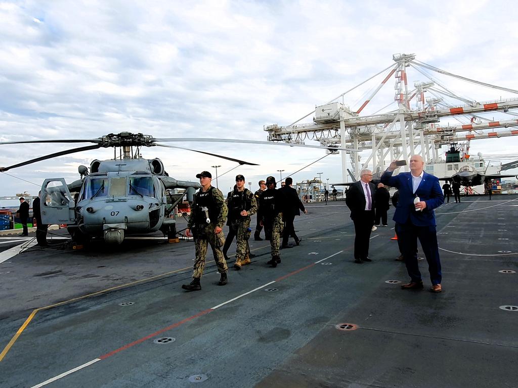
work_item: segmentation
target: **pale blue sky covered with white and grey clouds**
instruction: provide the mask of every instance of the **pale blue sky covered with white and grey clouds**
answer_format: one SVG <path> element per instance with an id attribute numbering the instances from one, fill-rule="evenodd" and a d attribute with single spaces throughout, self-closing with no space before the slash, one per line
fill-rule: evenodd
<path id="1" fill-rule="evenodd" d="M 93 139 L 122 131 L 265 141 L 264 126 L 293 123 L 394 64 L 396 53 L 415 53 L 419 61 L 440 69 L 518 89 L 518 53 L 510 43 L 518 39 L 518 29 L 510 9 L 514 2 L 483 0 L 0 0 L 0 141 Z M 410 85 L 424 81 L 422 74 L 408 71 Z M 435 76 L 477 101 L 518 97 Z M 344 103 L 358 109 L 382 78 L 348 93 Z M 376 112 L 393 98 L 391 79 L 362 114 Z M 310 115 L 301 123 L 311 120 Z M 458 124 L 452 118 L 444 123 Z M 325 155 L 311 148 L 171 144 L 260 164 L 219 177 L 224 192 L 236 174 L 257 189 L 258 180 L 279 178 L 277 170 L 284 170 L 285 177 Z M 471 150 L 512 154 L 516 145 L 514 137 L 479 140 Z M 66 148 L 0 145 L 0 166 Z M 182 150 L 151 147 L 142 154 L 161 158 L 170 176 L 185 181 L 197 181 L 202 170 L 215 176 L 211 166 L 220 166 L 220 175 L 236 167 Z M 88 151 L 10 170 L 13 176 L 0 173 L 0 196 L 36 194 L 44 178 L 74 181 L 79 165 L 112 155 L 112 150 Z M 366 160 L 368 153 L 360 156 Z M 322 173 L 324 182 L 340 182 L 340 166 L 340 156 L 330 155 L 293 178 L 300 182 Z"/>

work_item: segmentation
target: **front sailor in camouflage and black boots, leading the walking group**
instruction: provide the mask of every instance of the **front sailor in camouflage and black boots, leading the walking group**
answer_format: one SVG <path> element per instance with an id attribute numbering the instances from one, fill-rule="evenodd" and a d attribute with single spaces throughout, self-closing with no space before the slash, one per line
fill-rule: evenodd
<path id="1" fill-rule="evenodd" d="M 196 175 L 202 188 L 196 192 L 191 208 L 191 215 L 187 223 L 185 235 L 194 237 L 196 259 L 194 261 L 193 280 L 188 285 L 182 285 L 184 290 L 198 291 L 202 289 L 200 278 L 205 268 L 205 256 L 207 244 L 210 244 L 214 261 L 221 274 L 219 286 L 227 283 L 227 265 L 221 247 L 225 242 L 223 225 L 227 216 L 227 207 L 222 192 L 210 185 L 212 175 L 208 171 L 202 171 Z"/>

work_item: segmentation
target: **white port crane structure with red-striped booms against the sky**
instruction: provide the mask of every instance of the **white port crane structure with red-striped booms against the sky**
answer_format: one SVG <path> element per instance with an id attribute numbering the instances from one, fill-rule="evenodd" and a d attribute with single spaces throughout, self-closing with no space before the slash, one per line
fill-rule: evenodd
<path id="1" fill-rule="evenodd" d="M 487 112 L 503 112 L 518 116 L 518 113 L 511 111 L 518 108 L 518 98 L 500 97 L 498 100 L 479 102 L 461 97 L 432 77 L 429 72 L 438 72 L 513 94 L 518 94 L 518 91 L 457 76 L 417 61 L 414 54 L 394 54 L 393 59 L 395 65 L 381 70 L 324 105 L 316 106 L 314 111 L 296 122 L 287 126 L 266 126 L 264 130 L 268 132 L 268 140 L 293 144 L 303 144 L 305 140 L 318 140 L 323 146 L 341 148 L 352 145 L 356 151 L 341 151 L 342 178 L 343 182 L 347 182 L 347 153 L 351 157 L 351 170 L 358 178 L 361 168 L 371 165 L 372 171 L 383 170 L 387 166 L 387 161 L 399 158 L 408 160 L 413 154 L 420 154 L 426 163 L 438 161 L 439 149 L 443 144 L 518 135 L 518 120 L 496 121 L 482 116 Z M 426 77 L 425 82 L 414 82 L 414 88 L 411 90 L 407 80 L 409 67 Z M 343 103 L 344 96 L 349 92 L 378 76 L 384 76 L 383 80 L 356 111 Z M 360 115 L 392 76 L 395 78 L 394 101 L 385 108 L 396 103 L 397 109 L 386 113 Z M 339 99 L 342 99 L 342 102 L 339 102 Z M 298 124 L 311 114 L 314 114 L 312 123 Z M 453 117 L 459 125 L 438 124 L 441 119 L 448 117 Z M 361 150 L 370 150 L 370 155 L 360 164 L 356 152 Z M 469 143 L 464 147 L 464 152 L 469 152 Z"/>

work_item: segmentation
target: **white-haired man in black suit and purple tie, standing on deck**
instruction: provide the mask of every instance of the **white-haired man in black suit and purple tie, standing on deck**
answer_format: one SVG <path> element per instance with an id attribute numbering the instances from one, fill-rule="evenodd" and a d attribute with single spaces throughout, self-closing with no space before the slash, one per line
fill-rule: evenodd
<path id="1" fill-rule="evenodd" d="M 354 182 L 346 194 L 346 205 L 351 210 L 354 223 L 354 262 L 361 264 L 369 259 L 370 232 L 374 225 L 376 186 L 372 183 L 372 172 L 360 171 L 360 180 Z"/>

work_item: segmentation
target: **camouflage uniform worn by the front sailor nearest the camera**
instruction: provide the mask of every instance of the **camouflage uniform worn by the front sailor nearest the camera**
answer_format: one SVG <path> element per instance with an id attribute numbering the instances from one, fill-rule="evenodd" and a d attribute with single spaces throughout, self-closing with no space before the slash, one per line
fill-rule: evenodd
<path id="1" fill-rule="evenodd" d="M 202 203 L 201 197 L 204 196 L 211 196 L 214 211 L 218 213 L 219 210 L 216 219 L 209 217 L 211 218 L 210 223 L 204 223 L 203 219 L 200 221 L 199 218 L 200 214 L 203 216 L 203 212 L 201 210 L 202 206 L 200 203 Z M 193 204 L 191 215 L 189 216 L 189 222 L 187 223 L 187 227 L 193 231 L 194 248 L 196 251 L 193 271 L 194 278 L 202 277 L 203 270 L 205 268 L 205 257 L 207 256 L 207 244 L 210 244 L 210 247 L 212 248 L 212 254 L 214 255 L 214 261 L 218 266 L 218 271 L 220 274 L 226 273 L 227 265 L 225 258 L 223 257 L 223 252 L 221 251 L 221 247 L 225 242 L 225 237 L 223 235 L 223 231 L 218 234 L 214 234 L 214 229 L 216 227 L 223 229 L 227 212 L 228 210 L 223 198 L 223 193 L 219 189 L 211 186 L 206 192 L 203 192 L 202 189 L 200 189 L 196 193 L 195 203 Z M 197 216 L 198 219 L 196 219 Z"/>

